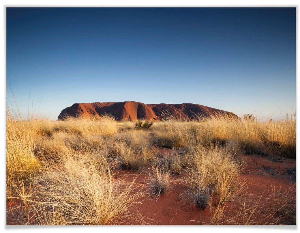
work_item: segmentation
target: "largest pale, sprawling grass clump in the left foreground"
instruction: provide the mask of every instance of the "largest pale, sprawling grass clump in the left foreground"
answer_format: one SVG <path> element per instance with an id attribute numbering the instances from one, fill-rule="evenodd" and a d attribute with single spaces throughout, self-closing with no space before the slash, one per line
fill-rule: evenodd
<path id="1" fill-rule="evenodd" d="M 114 180 L 104 158 L 63 156 L 58 162 L 45 164 L 31 186 L 34 189 L 27 202 L 34 217 L 27 224 L 109 225 L 132 220 L 143 223 L 140 216 L 131 213 L 143 192 L 132 191 L 137 189 L 134 182 Z"/>

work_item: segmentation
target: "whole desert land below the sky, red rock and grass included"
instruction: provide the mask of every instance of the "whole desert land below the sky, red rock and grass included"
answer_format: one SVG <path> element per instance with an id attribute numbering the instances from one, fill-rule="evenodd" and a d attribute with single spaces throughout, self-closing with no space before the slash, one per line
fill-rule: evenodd
<path id="1" fill-rule="evenodd" d="M 295 225 L 295 116 L 134 101 L 13 116 L 8 225 Z"/>

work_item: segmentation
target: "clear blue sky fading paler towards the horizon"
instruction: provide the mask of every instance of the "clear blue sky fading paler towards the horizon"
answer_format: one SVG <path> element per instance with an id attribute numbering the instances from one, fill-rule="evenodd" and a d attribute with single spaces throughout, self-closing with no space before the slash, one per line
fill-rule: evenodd
<path id="1" fill-rule="evenodd" d="M 268 117 L 295 110 L 295 45 L 295 8 L 7 8 L 7 83 L 24 117 L 130 100 Z"/>

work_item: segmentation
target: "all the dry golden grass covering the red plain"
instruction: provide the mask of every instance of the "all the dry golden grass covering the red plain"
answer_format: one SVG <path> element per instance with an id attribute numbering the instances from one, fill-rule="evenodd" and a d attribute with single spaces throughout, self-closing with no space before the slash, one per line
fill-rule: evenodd
<path id="1" fill-rule="evenodd" d="M 153 144 L 178 150 L 159 156 Z M 273 209 L 264 217 L 262 201 L 249 206 L 247 200 L 235 216 L 224 219 L 227 201 L 243 203 L 242 151 L 295 157 L 295 119 L 168 120 L 136 130 L 133 123 L 117 123 L 110 116 L 52 122 L 16 121 L 7 114 L 7 198 L 22 202 L 20 224 L 142 224 L 143 217 L 133 210 L 144 193 L 134 182 L 114 179 L 114 169 L 139 171 L 152 164 L 151 192 L 167 192 L 170 176 L 179 174 L 187 187 L 182 196 L 202 210 L 209 206 L 210 224 L 269 224 L 274 213 L 293 218 L 286 210 L 292 201 L 274 192 Z"/>

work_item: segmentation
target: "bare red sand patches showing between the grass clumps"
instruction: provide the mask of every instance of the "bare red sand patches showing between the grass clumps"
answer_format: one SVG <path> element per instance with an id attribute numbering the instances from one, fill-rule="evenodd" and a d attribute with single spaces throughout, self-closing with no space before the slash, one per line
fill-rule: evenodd
<path id="1" fill-rule="evenodd" d="M 160 149 L 161 153 L 168 154 L 170 149 Z M 281 159 L 280 161 L 273 162 L 270 159 L 263 157 L 255 157 L 240 155 L 246 161 L 244 172 L 240 174 L 240 178 L 244 179 L 247 183 L 247 191 L 250 198 L 253 195 L 253 201 L 262 195 L 263 198 L 268 198 L 271 192 L 271 184 L 276 186 L 277 191 L 281 186 L 281 193 L 294 186 L 289 182 L 289 175 L 286 174 L 287 169 L 295 166 L 295 160 Z M 253 161 L 254 160 L 254 161 Z M 147 180 L 149 178 L 150 167 L 144 168 L 139 174 L 134 171 L 122 170 L 116 175 L 116 179 L 122 178 L 128 182 L 134 179 L 138 185 L 143 185 L 143 190 L 146 191 Z M 180 179 L 180 176 L 172 178 Z M 180 199 L 179 195 L 186 190 L 183 184 L 173 185 L 173 189 L 169 190 L 166 194 L 156 197 L 150 196 L 146 199 L 143 198 L 141 204 L 137 205 L 134 213 L 140 213 L 146 217 L 146 222 L 151 225 L 201 225 L 208 221 L 209 208 L 201 211 L 199 207 L 194 206 L 190 201 Z M 292 195 L 295 195 L 295 189 L 292 189 Z M 213 203 L 214 204 L 214 203 Z M 7 210 L 16 208 L 20 205 L 19 202 L 7 202 Z M 270 203 L 265 204 L 270 207 Z M 226 216 L 235 214 L 238 205 L 233 202 L 226 203 Z M 7 211 L 7 225 L 16 225 L 19 213 L 15 210 Z M 148 218 L 148 219 L 147 219 Z M 284 222 L 281 222 L 284 224 Z M 128 224 L 127 223 L 119 223 Z M 138 224 L 138 222 L 131 222 L 131 224 Z"/>

